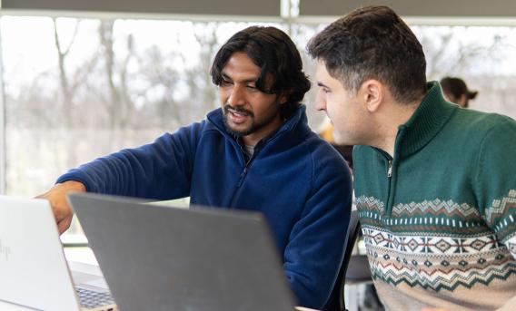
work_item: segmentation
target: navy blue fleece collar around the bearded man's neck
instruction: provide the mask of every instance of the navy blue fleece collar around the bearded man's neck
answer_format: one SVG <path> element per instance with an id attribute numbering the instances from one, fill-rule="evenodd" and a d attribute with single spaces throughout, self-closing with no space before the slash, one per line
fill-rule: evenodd
<path id="1" fill-rule="evenodd" d="M 223 109 L 218 108 L 213 110 L 212 112 L 209 112 L 206 116 L 208 121 L 211 121 L 215 128 L 223 133 L 223 135 L 232 137 L 230 133 L 225 128 L 224 121 L 223 121 Z M 293 112 L 293 115 L 283 122 L 283 124 L 276 130 L 273 131 L 269 136 L 264 138 L 262 141 L 271 141 L 275 137 L 281 135 L 283 132 L 289 132 L 293 131 L 294 128 L 297 128 L 296 131 L 310 131 L 310 128 L 308 127 L 308 119 L 306 117 L 306 106 L 303 104 L 300 104 L 299 107 Z"/>

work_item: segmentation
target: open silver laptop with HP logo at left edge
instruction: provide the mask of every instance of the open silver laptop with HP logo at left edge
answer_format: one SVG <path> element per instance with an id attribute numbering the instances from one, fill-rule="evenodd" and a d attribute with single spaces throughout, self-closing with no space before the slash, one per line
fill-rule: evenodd
<path id="1" fill-rule="evenodd" d="M 76 266 L 74 285 L 48 201 L 0 196 L 2 309 L 116 310 L 102 274 Z"/>

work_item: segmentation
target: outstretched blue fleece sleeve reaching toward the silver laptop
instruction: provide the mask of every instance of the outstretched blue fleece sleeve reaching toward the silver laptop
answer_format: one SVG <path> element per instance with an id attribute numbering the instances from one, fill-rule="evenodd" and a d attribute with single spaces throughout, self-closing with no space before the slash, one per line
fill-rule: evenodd
<path id="1" fill-rule="evenodd" d="M 69 170 L 56 182 L 76 180 L 89 192 L 144 199 L 187 197 L 203 124 L 194 123 L 150 144 L 98 158 Z"/>

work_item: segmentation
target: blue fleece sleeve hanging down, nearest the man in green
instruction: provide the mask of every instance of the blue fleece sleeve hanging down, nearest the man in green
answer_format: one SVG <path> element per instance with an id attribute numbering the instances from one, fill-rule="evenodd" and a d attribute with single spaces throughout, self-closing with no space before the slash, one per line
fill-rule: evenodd
<path id="1" fill-rule="evenodd" d="M 293 226 L 283 268 L 298 304 L 320 309 L 342 263 L 352 180 L 344 160 L 333 151 L 313 153 L 313 167 L 313 191 Z"/>

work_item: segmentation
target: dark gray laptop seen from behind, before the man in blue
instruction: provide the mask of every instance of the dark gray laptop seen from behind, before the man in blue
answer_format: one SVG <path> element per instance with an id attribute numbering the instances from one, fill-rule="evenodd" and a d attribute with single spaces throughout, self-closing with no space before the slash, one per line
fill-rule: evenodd
<path id="1" fill-rule="evenodd" d="M 114 299 L 131 310 L 293 310 L 263 217 L 74 193 Z"/>

